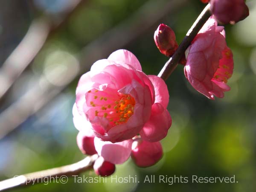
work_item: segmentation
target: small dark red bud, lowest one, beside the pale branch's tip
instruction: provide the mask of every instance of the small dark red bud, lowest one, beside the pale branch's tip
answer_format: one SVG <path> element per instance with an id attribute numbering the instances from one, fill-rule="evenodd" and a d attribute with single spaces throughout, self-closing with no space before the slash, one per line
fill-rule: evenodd
<path id="1" fill-rule="evenodd" d="M 115 172 L 116 166 L 113 163 L 105 161 L 103 157 L 99 157 L 96 159 L 93 169 L 97 175 L 107 177 Z"/>

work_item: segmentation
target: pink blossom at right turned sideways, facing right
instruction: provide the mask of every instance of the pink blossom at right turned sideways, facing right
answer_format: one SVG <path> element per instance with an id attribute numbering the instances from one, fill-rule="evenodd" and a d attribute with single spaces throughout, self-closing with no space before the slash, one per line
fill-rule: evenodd
<path id="1" fill-rule="evenodd" d="M 210 18 L 186 50 L 184 73 L 190 84 L 209 99 L 224 97 L 233 74 L 233 54 L 227 47 L 224 27 Z"/>

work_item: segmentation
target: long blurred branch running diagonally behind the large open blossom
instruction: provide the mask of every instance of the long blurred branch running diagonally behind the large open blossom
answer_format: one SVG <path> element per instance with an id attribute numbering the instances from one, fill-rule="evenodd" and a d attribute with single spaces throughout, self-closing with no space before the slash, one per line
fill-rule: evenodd
<path id="1" fill-rule="evenodd" d="M 79 53 L 80 73 L 87 71 L 93 62 L 105 58 L 113 52 L 113 50 L 125 47 L 125 45 L 146 32 L 166 14 L 178 11 L 187 1 L 188 0 L 150 0 L 145 3 L 145 5 L 131 15 L 130 18 L 84 47 Z M 71 67 L 67 68 L 65 73 L 69 73 L 69 71 L 72 70 Z M 76 72 L 72 78 L 67 79 L 64 73 L 59 74 L 56 79 L 65 79 L 65 83 L 61 86 L 55 86 L 42 75 L 38 80 L 38 85 L 32 87 L 31 90 L 17 100 L 17 102 L 13 103 L 0 114 L 0 139 L 14 130 L 33 113 L 36 113 L 54 96 L 58 95 L 58 93 L 67 87 L 78 75 L 80 74 Z M 39 86 L 42 80 L 44 85 Z"/>

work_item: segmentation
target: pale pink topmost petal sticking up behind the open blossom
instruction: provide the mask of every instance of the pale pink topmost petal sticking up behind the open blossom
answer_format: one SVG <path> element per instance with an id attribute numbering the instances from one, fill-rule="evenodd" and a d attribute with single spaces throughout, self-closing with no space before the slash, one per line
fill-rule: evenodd
<path id="1" fill-rule="evenodd" d="M 109 55 L 108 60 L 118 63 L 124 62 L 130 64 L 135 69 L 142 71 L 140 61 L 137 59 L 137 57 L 132 52 L 125 49 L 119 49 L 112 52 L 111 55 Z"/>

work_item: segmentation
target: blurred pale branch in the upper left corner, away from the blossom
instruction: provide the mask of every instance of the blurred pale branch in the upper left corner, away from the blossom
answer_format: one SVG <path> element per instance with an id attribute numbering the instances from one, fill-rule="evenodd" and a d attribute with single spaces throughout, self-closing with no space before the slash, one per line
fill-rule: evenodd
<path id="1" fill-rule="evenodd" d="M 28 67 L 35 58 L 47 39 L 57 32 L 70 15 L 79 8 L 83 0 L 74 0 L 70 3 L 68 13 L 61 15 L 61 19 L 55 21 L 53 16 L 44 15 L 32 21 L 28 32 L 20 44 L 9 55 L 0 68 L 0 99 L 6 94 L 20 74 Z"/>

